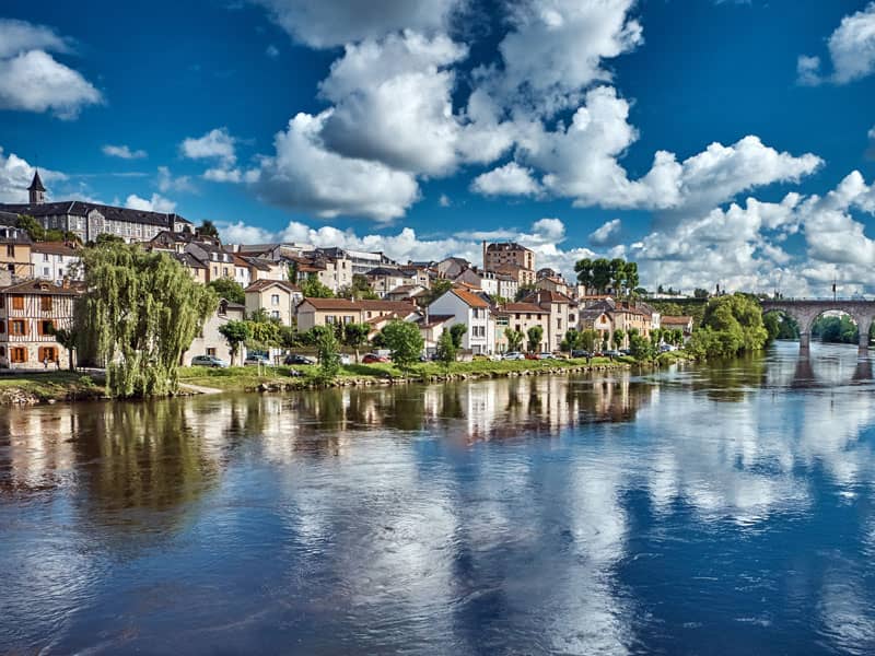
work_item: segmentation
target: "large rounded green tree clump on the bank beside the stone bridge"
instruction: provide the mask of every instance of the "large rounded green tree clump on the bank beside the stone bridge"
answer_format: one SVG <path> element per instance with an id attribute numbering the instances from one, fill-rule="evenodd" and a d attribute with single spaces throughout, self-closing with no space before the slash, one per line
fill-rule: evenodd
<path id="1" fill-rule="evenodd" d="M 698 358 L 731 358 L 762 349 L 768 338 L 756 300 L 732 294 L 708 302 L 702 327 L 692 333 L 687 350 Z"/>

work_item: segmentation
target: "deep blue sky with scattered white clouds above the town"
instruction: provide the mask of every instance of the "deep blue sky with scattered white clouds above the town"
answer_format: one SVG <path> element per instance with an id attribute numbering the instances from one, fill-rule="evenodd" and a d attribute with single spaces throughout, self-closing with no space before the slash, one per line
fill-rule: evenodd
<path id="1" fill-rule="evenodd" d="M 867 2 L 129 4 L 3 3 L 0 200 L 38 165 L 226 241 L 875 291 Z"/>

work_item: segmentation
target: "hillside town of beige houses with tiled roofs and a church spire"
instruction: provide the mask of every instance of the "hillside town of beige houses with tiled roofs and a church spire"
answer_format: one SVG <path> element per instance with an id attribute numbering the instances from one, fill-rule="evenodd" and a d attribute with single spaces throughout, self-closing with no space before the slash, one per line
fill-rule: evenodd
<path id="1" fill-rule="evenodd" d="M 0 204 L 2 368 L 74 364 L 57 331 L 70 328 L 74 301 L 83 293 L 82 245 L 105 235 L 167 254 L 202 284 L 240 285 L 244 301 L 220 300 L 184 354 L 184 365 L 199 356 L 225 359 L 229 343 L 221 326 L 252 316 L 267 316 L 300 332 L 364 324 L 369 339 L 400 319 L 419 328 L 423 356 L 433 354 L 442 333 L 459 324 L 460 352 L 493 358 L 520 349 L 509 339 L 514 335 L 529 338 L 526 345 L 534 356 L 549 356 L 562 350 L 569 330 L 594 330 L 599 344 L 618 350 L 628 348 L 632 335 L 649 338 L 669 328 L 686 338 L 692 331 L 691 317 L 663 317 L 643 301 L 568 281 L 559 271 L 538 268 L 535 251 L 513 242 L 483 242 L 479 262 L 460 257 L 398 262 L 383 253 L 341 247 L 226 244 L 217 231 L 198 229 L 178 214 L 79 200 L 47 202 L 38 172 L 28 194 L 26 204 Z M 33 238 L 28 222 L 45 239 Z M 314 289 L 318 294 L 308 293 Z"/>

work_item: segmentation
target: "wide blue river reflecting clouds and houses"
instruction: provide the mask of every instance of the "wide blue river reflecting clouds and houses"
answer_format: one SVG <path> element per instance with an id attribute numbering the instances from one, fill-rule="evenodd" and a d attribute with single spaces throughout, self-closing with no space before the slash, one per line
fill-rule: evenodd
<path id="1" fill-rule="evenodd" d="M 875 652 L 854 347 L 0 409 L 0 653 Z"/>

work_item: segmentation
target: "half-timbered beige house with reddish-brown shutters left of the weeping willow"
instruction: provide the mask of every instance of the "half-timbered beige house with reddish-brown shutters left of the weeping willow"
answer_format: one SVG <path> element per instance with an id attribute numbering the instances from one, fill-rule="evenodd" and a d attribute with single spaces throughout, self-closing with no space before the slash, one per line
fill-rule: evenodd
<path id="1" fill-rule="evenodd" d="M 43 280 L 0 288 L 0 367 L 67 368 L 67 350 L 52 331 L 69 328 L 80 291 Z"/>

